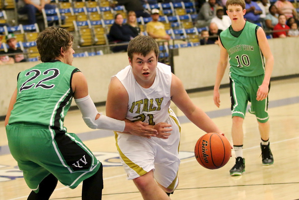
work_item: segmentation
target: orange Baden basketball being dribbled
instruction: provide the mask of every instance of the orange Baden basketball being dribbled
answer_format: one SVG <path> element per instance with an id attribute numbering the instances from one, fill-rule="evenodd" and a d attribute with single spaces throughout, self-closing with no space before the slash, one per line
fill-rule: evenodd
<path id="1" fill-rule="evenodd" d="M 231 144 L 219 133 L 207 133 L 196 142 L 195 158 L 207 169 L 223 167 L 231 157 Z"/>

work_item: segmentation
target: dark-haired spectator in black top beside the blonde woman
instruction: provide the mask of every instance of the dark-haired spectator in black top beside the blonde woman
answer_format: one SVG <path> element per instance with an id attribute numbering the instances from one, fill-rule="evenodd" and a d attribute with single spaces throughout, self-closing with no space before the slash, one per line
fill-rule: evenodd
<path id="1" fill-rule="evenodd" d="M 123 43 L 129 42 L 134 38 L 134 33 L 130 27 L 126 24 L 123 24 L 123 16 L 121 14 L 115 15 L 114 24 L 110 27 L 109 31 L 109 40 L 114 43 Z M 112 47 L 113 52 L 126 51 L 128 45 L 121 45 Z"/>

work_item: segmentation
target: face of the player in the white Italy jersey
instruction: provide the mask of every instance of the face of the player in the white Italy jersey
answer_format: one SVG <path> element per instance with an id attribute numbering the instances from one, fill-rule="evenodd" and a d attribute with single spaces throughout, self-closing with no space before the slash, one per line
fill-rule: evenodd
<path id="1" fill-rule="evenodd" d="M 157 59 L 154 51 L 149 52 L 146 56 L 134 53 L 132 60 L 129 58 L 134 77 L 142 87 L 149 88 L 153 84 L 156 76 Z"/>

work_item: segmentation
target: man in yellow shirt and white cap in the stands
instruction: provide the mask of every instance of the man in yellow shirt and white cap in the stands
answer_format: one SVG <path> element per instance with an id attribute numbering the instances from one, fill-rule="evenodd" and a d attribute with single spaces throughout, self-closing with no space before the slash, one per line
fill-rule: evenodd
<path id="1" fill-rule="evenodd" d="M 166 33 L 164 24 L 159 19 L 159 10 L 152 9 L 152 21 L 147 23 L 147 33 L 155 39 L 170 40 L 170 36 Z"/>

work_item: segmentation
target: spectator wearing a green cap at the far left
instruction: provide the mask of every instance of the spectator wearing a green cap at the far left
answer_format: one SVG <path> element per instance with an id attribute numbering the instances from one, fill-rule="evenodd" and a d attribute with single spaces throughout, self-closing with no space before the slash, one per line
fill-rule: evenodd
<path id="1" fill-rule="evenodd" d="M 8 34 L 6 37 L 6 44 L 8 45 L 7 53 L 20 53 L 16 55 L 11 55 L 9 57 L 13 58 L 14 62 L 27 62 L 23 51 L 17 48 L 17 39 L 13 33 Z"/>

